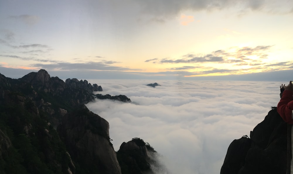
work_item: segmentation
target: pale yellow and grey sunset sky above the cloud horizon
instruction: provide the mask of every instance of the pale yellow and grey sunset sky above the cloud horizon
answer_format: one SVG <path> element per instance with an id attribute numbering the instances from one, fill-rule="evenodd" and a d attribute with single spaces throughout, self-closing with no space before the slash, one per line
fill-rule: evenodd
<path id="1" fill-rule="evenodd" d="M 2 0 L 0 73 L 292 80 L 291 0 Z"/>

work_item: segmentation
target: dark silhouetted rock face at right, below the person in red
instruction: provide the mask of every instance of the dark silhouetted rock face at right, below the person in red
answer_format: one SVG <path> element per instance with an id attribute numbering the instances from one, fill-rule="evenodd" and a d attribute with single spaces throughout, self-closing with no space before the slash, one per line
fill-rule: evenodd
<path id="1" fill-rule="evenodd" d="M 230 144 L 221 174 L 286 174 L 286 155 L 287 123 L 272 108 L 250 138 Z"/>

